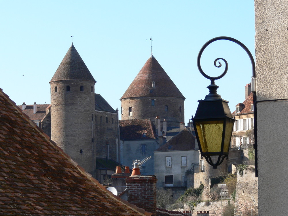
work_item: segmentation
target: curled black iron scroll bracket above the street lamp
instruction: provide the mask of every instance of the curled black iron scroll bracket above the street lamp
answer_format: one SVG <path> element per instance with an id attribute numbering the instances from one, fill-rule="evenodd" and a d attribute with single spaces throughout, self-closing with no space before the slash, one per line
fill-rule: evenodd
<path id="1" fill-rule="evenodd" d="M 205 78 L 210 79 L 211 82 L 214 82 L 215 79 L 220 79 L 220 78 L 222 78 L 223 76 L 225 76 L 225 74 L 226 74 L 227 71 L 228 71 L 228 63 L 227 63 L 227 61 L 226 61 L 224 58 L 216 58 L 215 61 L 214 61 L 214 66 L 215 66 L 215 67 L 218 67 L 218 68 L 222 66 L 219 60 L 223 60 L 223 61 L 225 62 L 224 72 L 223 72 L 220 76 L 218 76 L 218 77 L 208 76 L 206 73 L 204 73 L 204 71 L 202 70 L 201 65 L 200 65 L 200 59 L 201 59 L 201 55 L 202 55 L 204 49 L 205 49 L 210 43 L 213 43 L 214 41 L 218 41 L 218 40 L 228 40 L 228 41 L 232 41 L 232 42 L 234 42 L 234 43 L 237 43 L 239 46 L 241 46 L 241 47 L 247 52 L 247 54 L 248 54 L 248 56 L 249 56 L 249 58 L 250 58 L 250 60 L 251 60 L 251 64 L 252 64 L 252 76 L 253 76 L 253 77 L 256 76 L 256 74 L 255 74 L 255 62 L 254 62 L 254 58 L 253 58 L 251 52 L 248 50 L 248 48 L 247 48 L 243 43 L 241 43 L 240 41 L 238 41 L 238 40 L 236 40 L 236 39 L 234 39 L 234 38 L 232 38 L 232 37 L 221 36 L 221 37 L 215 37 L 215 38 L 207 41 L 207 42 L 204 44 L 204 46 L 202 46 L 202 48 L 201 48 L 200 51 L 199 51 L 199 54 L 198 54 L 198 57 L 197 57 L 197 66 L 198 66 L 198 70 L 200 71 L 200 73 L 201 73 Z M 219 65 L 217 65 L 217 61 L 218 61 L 218 64 L 219 64 Z"/>

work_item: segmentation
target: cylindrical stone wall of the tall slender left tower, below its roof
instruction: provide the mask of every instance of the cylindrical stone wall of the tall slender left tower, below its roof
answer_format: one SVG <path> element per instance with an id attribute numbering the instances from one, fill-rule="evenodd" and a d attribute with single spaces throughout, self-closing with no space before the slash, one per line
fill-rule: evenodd
<path id="1" fill-rule="evenodd" d="M 50 86 L 51 139 L 87 172 L 93 173 L 94 82 L 54 81 Z M 67 92 L 66 86 L 70 86 L 70 91 Z M 80 91 L 80 86 L 84 86 L 84 91 Z"/>

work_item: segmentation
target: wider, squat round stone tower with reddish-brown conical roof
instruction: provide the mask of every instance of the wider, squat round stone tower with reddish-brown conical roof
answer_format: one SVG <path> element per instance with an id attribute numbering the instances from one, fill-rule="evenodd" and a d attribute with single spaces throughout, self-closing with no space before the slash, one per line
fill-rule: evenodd
<path id="1" fill-rule="evenodd" d="M 121 119 L 151 119 L 156 116 L 167 126 L 184 122 L 185 97 L 153 55 L 121 97 Z"/>

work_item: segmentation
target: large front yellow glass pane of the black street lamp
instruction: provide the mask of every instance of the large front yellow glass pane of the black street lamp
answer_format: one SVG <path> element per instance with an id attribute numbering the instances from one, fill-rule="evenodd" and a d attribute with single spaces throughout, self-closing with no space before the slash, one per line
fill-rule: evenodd
<path id="1" fill-rule="evenodd" d="M 223 121 L 196 122 L 196 129 L 204 153 L 221 151 Z"/>

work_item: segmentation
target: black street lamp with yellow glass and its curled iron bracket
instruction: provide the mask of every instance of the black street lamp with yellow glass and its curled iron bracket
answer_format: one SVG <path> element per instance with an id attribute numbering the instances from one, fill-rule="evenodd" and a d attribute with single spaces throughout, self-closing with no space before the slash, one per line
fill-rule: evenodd
<path id="1" fill-rule="evenodd" d="M 192 116 L 192 121 L 201 157 L 204 157 L 206 161 L 213 166 L 214 169 L 216 169 L 217 166 L 223 162 L 224 158 L 228 157 L 232 130 L 235 122 L 235 119 L 232 118 L 232 114 L 228 107 L 228 101 L 223 100 L 221 96 L 217 94 L 217 88 L 219 88 L 219 86 L 215 85 L 215 79 L 220 79 L 227 73 L 227 61 L 223 58 L 217 58 L 214 61 L 215 67 L 222 66 L 219 60 L 223 60 L 225 62 L 225 70 L 218 77 L 210 77 L 206 75 L 200 65 L 200 58 L 204 49 L 210 43 L 217 40 L 233 41 L 240 45 L 247 52 L 253 67 L 254 79 L 252 77 L 252 81 L 255 80 L 255 62 L 253 60 L 252 54 L 240 41 L 231 37 L 215 37 L 205 43 L 201 48 L 197 58 L 197 66 L 200 73 L 207 79 L 211 80 L 211 84 L 207 87 L 209 89 L 209 94 L 206 95 L 204 100 L 198 101 L 199 105 L 196 110 L 195 117 Z M 217 61 L 219 64 L 218 66 L 216 65 Z M 254 86 L 255 85 L 253 85 L 253 87 Z M 255 92 L 255 90 L 252 91 Z M 256 94 L 253 93 L 253 95 L 256 97 Z M 254 107 L 256 107 L 255 105 Z"/>

